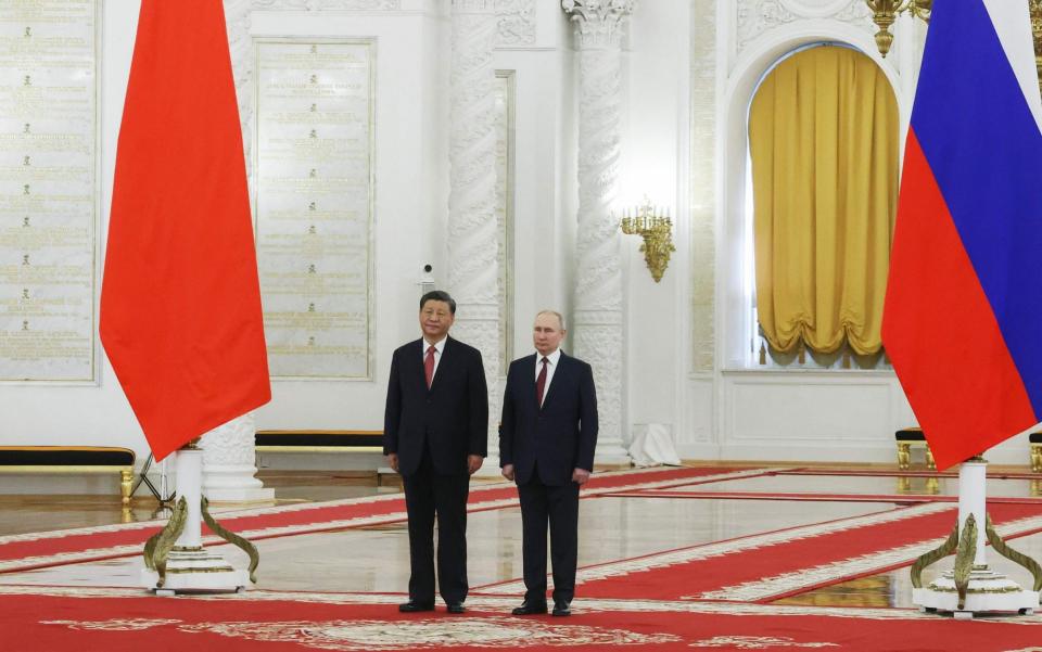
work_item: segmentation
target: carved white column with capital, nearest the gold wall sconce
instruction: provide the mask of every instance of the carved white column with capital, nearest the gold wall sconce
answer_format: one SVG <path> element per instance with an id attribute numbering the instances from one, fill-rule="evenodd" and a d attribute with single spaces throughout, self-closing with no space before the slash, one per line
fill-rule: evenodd
<path id="1" fill-rule="evenodd" d="M 575 355 L 594 368 L 598 463 L 626 464 L 622 440 L 622 271 L 618 193 L 622 120 L 622 29 L 634 0 L 562 0 L 579 47 L 579 225 L 575 234 Z"/>

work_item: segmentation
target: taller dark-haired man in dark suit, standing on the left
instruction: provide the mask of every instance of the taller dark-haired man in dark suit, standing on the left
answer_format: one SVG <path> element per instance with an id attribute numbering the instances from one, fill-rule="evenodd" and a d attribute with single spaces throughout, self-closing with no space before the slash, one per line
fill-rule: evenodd
<path id="1" fill-rule="evenodd" d="M 456 302 L 434 291 L 420 299 L 423 337 L 391 359 L 383 453 L 402 474 L 409 516 L 409 601 L 402 612 L 434 609 L 437 586 L 450 613 L 467 599 L 467 495 L 488 445 L 488 393 L 481 351 L 448 336 Z"/>

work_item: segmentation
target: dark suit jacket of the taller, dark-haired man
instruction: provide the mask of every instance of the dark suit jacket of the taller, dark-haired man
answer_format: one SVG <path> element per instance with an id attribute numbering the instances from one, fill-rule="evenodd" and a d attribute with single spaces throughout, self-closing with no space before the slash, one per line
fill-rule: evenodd
<path id="1" fill-rule="evenodd" d="M 423 340 L 398 347 L 391 359 L 383 416 L 383 453 L 398 455 L 398 471 L 411 475 L 430 442 L 434 470 L 467 475 L 467 456 L 488 455 L 488 389 L 481 351 L 448 337 L 427 388 Z"/>

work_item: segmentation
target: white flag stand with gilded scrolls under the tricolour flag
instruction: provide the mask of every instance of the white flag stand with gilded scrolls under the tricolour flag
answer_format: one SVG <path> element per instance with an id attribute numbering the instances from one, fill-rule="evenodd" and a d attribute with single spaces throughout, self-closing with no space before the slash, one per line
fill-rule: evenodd
<path id="1" fill-rule="evenodd" d="M 958 521 L 948 540 L 912 565 L 912 601 L 920 610 L 951 613 L 956 619 L 984 614 L 1034 613 L 1042 588 L 1042 567 L 1031 558 L 1009 548 L 992 527 L 987 511 L 988 460 L 973 457 L 958 470 Z M 988 566 L 986 541 L 995 552 L 1031 571 L 1033 590 L 1026 590 Z M 955 564 L 928 586 L 924 568 L 955 552 Z"/>

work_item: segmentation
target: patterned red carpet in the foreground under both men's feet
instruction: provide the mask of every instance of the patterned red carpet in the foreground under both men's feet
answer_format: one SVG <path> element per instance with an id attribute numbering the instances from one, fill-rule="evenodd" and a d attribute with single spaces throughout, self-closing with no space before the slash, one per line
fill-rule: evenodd
<path id="1" fill-rule="evenodd" d="M 8 592 L 11 587 L 0 590 Z M 86 589 L 85 592 L 89 592 Z M 41 589 L 41 593 L 48 589 Z M 97 592 L 97 591 L 96 591 Z M 103 595 L 97 592 L 99 596 Z M 956 622 L 911 610 L 577 600 L 570 618 L 512 617 L 513 601 L 463 615 L 399 615 L 394 596 L 267 593 L 220 599 L 0 595 L 0 640 L 28 650 L 361 651 L 826 649 L 1038 650 L 1042 619 Z"/>

